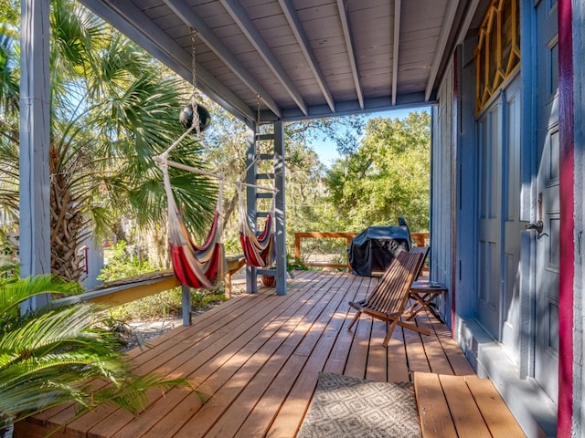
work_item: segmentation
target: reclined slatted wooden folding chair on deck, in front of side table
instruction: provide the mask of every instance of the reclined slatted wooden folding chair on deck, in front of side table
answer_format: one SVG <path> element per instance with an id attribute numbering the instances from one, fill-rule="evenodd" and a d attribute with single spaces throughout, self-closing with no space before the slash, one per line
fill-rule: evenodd
<path id="1" fill-rule="evenodd" d="M 349 305 L 357 310 L 357 314 L 348 329 L 351 329 L 360 315 L 365 313 L 372 318 L 390 323 L 386 338 L 382 342 L 384 347 L 388 347 L 392 332 L 397 325 L 424 335 L 431 334 L 426 328 L 420 328 L 412 322 L 400 319 L 409 303 L 412 282 L 419 276 L 428 252 L 428 247 L 414 246 L 410 252 L 402 251 L 399 253 L 366 299 L 349 302 Z"/>

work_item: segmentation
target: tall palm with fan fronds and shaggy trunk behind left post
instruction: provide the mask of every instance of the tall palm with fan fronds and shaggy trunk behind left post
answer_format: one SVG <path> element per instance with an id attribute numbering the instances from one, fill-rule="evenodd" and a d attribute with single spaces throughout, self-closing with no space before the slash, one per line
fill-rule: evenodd
<path id="1" fill-rule="evenodd" d="M 0 209 L 17 220 L 20 15 L 9 7 L 0 14 Z M 53 272 L 79 279 L 69 255 L 85 237 L 112 235 L 122 217 L 165 227 L 165 190 L 152 157 L 184 132 L 178 114 L 190 89 L 79 2 L 52 1 L 50 14 L 51 263 Z M 205 167 L 201 154 L 189 136 L 170 158 Z M 217 184 L 169 172 L 187 226 L 204 233 Z"/>

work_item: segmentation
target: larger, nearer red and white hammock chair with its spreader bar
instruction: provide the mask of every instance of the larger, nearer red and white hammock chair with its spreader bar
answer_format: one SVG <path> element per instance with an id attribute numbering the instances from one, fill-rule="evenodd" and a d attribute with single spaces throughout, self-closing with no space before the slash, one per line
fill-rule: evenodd
<path id="1" fill-rule="evenodd" d="M 189 133 L 189 131 L 190 130 L 187 130 L 186 133 L 163 154 L 154 157 L 154 161 L 157 162 L 163 172 L 168 205 L 168 242 L 175 275 L 184 286 L 212 290 L 218 287 L 218 284 L 223 279 L 224 272 L 226 271 L 224 249 L 220 242 L 221 235 L 223 234 L 221 218 L 223 178 L 214 173 L 201 171 L 200 169 L 186 166 L 178 162 L 168 161 L 168 152 L 171 151 L 175 145 L 178 144 L 187 133 Z M 219 180 L 218 204 L 216 205 L 211 230 L 209 231 L 207 239 L 203 245 L 197 245 L 186 229 L 186 225 L 176 205 L 175 196 L 173 195 L 171 188 L 171 179 L 168 173 L 169 166 L 183 169 L 188 172 L 214 176 Z"/>

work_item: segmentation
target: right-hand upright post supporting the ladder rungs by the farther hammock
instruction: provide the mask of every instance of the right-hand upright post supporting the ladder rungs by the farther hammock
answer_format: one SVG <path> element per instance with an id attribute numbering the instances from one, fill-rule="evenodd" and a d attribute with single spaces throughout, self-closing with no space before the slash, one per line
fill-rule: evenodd
<path id="1" fill-rule="evenodd" d="M 274 128 L 274 183 L 276 193 L 276 294 L 286 295 L 286 227 L 284 195 L 284 124 L 273 123 Z"/>

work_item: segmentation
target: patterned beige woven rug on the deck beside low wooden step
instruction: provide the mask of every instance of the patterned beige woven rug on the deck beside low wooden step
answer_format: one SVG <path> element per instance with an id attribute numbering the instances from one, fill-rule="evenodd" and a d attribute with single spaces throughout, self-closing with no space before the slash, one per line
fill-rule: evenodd
<path id="1" fill-rule="evenodd" d="M 420 437 L 410 381 L 364 381 L 320 372 L 297 438 Z"/>

